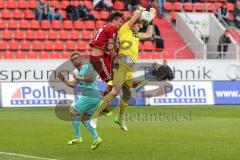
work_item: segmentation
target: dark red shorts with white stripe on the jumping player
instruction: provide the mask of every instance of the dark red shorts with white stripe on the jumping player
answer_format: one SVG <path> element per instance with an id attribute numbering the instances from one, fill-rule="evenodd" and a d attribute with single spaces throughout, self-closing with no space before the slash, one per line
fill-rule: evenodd
<path id="1" fill-rule="evenodd" d="M 112 57 L 107 56 L 90 56 L 90 63 L 92 64 L 93 68 L 103 81 L 110 81 L 112 80 Z"/>

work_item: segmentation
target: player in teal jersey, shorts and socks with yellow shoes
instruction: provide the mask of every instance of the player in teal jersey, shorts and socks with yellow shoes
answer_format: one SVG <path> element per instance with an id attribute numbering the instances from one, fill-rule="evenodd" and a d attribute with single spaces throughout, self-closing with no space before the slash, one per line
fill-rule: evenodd
<path id="1" fill-rule="evenodd" d="M 58 73 L 57 75 L 67 86 L 74 88 L 79 84 L 82 89 L 82 96 L 70 107 L 75 137 L 69 141 L 68 144 L 72 145 L 82 142 L 80 127 L 83 123 L 94 139 L 91 149 L 96 149 L 102 142 L 102 139 L 98 136 L 96 130 L 96 119 L 82 120 L 84 119 L 84 116 L 91 116 L 101 102 L 101 93 L 96 84 L 97 73 L 91 64 L 83 64 L 82 57 L 78 53 L 73 53 L 71 55 L 71 62 L 78 70 L 77 74 L 75 72 L 72 73 L 73 80 L 66 80 L 61 73 Z"/>

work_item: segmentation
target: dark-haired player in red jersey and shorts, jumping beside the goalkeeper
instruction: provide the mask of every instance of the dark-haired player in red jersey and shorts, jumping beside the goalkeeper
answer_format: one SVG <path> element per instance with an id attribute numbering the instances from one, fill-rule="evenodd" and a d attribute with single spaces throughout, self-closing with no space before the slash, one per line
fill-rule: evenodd
<path id="1" fill-rule="evenodd" d="M 117 32 L 123 24 L 123 14 L 119 11 L 113 11 L 109 15 L 109 23 L 100 27 L 94 40 L 90 43 L 92 47 L 92 55 L 90 56 L 90 63 L 97 71 L 103 81 L 106 82 L 107 88 L 103 96 L 108 94 L 113 86 L 113 69 L 115 67 L 115 58 L 118 52 Z M 113 64 L 113 65 L 112 65 Z M 140 90 L 147 81 L 140 83 L 134 82 L 134 91 Z M 129 93 L 126 93 L 129 95 Z M 108 112 L 105 110 L 105 112 Z"/>

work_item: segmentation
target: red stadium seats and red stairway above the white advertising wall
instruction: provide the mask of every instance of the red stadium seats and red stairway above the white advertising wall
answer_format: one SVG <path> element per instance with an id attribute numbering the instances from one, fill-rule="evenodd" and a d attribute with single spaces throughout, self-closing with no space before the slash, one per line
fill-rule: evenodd
<path id="1" fill-rule="evenodd" d="M 216 12 L 222 2 L 207 1 L 193 4 L 168 1 L 165 10 L 175 21 L 177 12 Z M 79 2 L 74 1 L 73 4 L 77 6 Z M 42 20 L 39 23 L 34 15 L 37 0 L 0 0 L 0 50 L 2 53 L 0 58 L 64 59 L 68 58 L 70 53 L 74 51 L 80 51 L 81 54 L 88 55 L 89 41 L 94 36 L 94 31 L 106 22 L 109 12 L 93 10 L 93 4 L 90 0 L 84 0 L 84 4 L 90 9 L 90 13 L 97 18 L 96 21 L 69 21 L 66 19 L 64 10 L 69 5 L 69 1 L 53 0 L 50 5 L 59 9 L 58 13 L 62 14 L 64 21 Z M 131 15 L 130 12 L 125 10 L 122 1 L 115 1 L 113 8 L 123 11 L 125 16 Z M 233 4 L 228 3 L 228 9 L 232 14 Z M 174 51 L 185 46 L 186 43 L 167 18 L 156 19 L 155 24 L 160 28 L 161 36 L 165 40 L 165 48 L 159 50 L 155 48 L 153 42 L 144 42 L 139 45 L 141 50 L 139 57 L 141 59 L 195 58 L 194 53 L 188 48 L 181 52 L 182 54 L 174 55 Z"/>

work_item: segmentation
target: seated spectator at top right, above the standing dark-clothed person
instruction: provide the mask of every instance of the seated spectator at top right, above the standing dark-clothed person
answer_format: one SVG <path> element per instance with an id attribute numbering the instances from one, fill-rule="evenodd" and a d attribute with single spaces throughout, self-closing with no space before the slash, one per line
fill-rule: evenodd
<path id="1" fill-rule="evenodd" d="M 224 25 L 225 24 L 230 25 L 229 12 L 226 3 L 223 3 L 222 7 L 218 9 L 217 17 L 220 20 L 220 22 L 223 23 Z"/>

